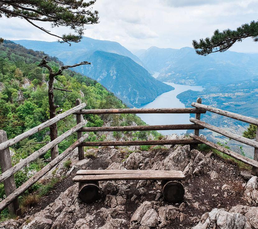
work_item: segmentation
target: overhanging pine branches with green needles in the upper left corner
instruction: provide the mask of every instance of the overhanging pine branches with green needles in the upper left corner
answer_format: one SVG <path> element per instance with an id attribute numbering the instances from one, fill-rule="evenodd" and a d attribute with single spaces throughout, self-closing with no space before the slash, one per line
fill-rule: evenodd
<path id="1" fill-rule="evenodd" d="M 1 0 L 0 17 L 19 17 L 38 29 L 58 37 L 61 43 L 80 42 L 85 24 L 99 23 L 98 11 L 92 11 L 96 0 Z M 52 27 L 67 26 L 75 34 L 58 36 L 35 24 L 35 21 L 51 22 Z M 0 38 L 0 43 L 3 39 Z"/>

